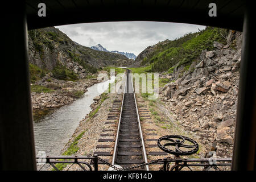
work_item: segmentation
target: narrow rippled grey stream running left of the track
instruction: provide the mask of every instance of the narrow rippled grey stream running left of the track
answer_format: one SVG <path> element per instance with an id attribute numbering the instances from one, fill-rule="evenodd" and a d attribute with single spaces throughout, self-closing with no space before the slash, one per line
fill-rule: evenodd
<path id="1" fill-rule="evenodd" d="M 88 91 L 80 99 L 70 105 L 51 110 L 43 117 L 34 118 L 34 135 L 36 154 L 46 152 L 46 155 L 60 155 L 61 149 L 71 138 L 79 126 L 79 122 L 92 110 L 90 105 L 93 98 L 100 96 L 108 89 L 108 80 L 100 82 L 88 88 Z"/>

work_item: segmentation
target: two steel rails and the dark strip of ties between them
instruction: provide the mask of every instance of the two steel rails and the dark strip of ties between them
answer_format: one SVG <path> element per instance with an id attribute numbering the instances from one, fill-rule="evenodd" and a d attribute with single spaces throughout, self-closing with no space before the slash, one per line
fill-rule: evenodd
<path id="1" fill-rule="evenodd" d="M 121 115 L 117 128 L 117 137 L 113 152 L 112 164 L 130 167 L 134 164 L 147 163 L 141 121 L 135 98 L 130 71 L 127 70 L 125 93 L 121 106 Z M 143 167 L 148 171 L 148 166 Z"/>

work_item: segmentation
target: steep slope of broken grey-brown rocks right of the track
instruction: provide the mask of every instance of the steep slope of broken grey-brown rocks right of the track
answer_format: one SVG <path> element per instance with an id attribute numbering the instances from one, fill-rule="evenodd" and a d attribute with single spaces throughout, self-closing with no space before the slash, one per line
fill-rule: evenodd
<path id="1" fill-rule="evenodd" d="M 231 48 L 234 42 L 235 49 Z M 175 71 L 169 75 L 175 81 L 160 92 L 160 99 L 185 130 L 199 135 L 209 148 L 218 143 L 217 156 L 230 157 L 233 152 L 241 42 L 242 34 L 230 31 L 226 45 L 214 42 L 215 49 L 203 50 L 183 77 L 177 78 Z"/>

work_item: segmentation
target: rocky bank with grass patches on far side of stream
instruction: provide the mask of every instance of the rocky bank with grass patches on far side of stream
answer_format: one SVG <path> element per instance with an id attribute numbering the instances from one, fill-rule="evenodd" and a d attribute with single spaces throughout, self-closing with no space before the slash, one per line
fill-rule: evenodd
<path id="1" fill-rule="evenodd" d="M 31 91 L 35 91 L 31 92 L 32 110 L 59 108 L 71 104 L 76 98 L 82 97 L 88 87 L 102 80 L 96 74 L 77 81 L 57 80 L 46 75 L 42 80 L 31 84 Z"/>

